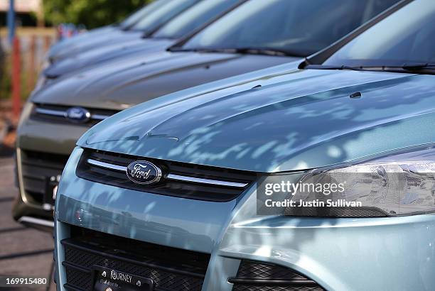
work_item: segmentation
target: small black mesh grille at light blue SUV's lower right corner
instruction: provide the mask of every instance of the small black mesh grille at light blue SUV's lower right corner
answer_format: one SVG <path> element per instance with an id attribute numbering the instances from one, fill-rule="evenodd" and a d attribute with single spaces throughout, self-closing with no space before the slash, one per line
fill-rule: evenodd
<path id="1" fill-rule="evenodd" d="M 295 270 L 242 260 L 237 276 L 229 278 L 234 284 L 233 291 L 322 291 L 323 288 L 313 280 Z"/>

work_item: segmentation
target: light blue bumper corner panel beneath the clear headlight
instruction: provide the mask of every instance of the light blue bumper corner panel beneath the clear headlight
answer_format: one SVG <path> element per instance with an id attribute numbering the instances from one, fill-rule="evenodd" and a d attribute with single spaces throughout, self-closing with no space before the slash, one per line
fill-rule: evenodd
<path id="1" fill-rule="evenodd" d="M 326 290 L 429 291 L 435 286 L 434 214 L 320 219 L 258 216 L 256 209 L 252 193 L 238 205 L 215 258 L 283 265 Z"/>

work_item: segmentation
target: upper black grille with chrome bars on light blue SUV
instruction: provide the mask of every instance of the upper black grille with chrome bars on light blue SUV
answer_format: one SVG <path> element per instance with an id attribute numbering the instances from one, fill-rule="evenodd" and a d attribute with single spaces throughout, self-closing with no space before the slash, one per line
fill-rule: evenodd
<path id="1" fill-rule="evenodd" d="M 131 182 L 124 171 L 102 168 L 88 163 L 88 160 L 96 160 L 110 165 L 127 167 L 135 160 L 148 160 L 161 168 L 162 179 L 155 185 L 138 185 Z M 240 183 L 244 187 L 230 187 L 216 184 L 203 184 L 200 182 L 171 180 L 168 173 L 183 177 L 208 179 L 213 181 L 225 181 Z M 131 190 L 139 190 L 154 194 L 163 194 L 174 197 L 200 199 L 206 201 L 225 202 L 235 199 L 249 185 L 257 180 L 256 172 L 231 170 L 226 168 L 193 165 L 168 160 L 156 160 L 153 158 L 135 157 L 117 153 L 108 153 L 97 150 L 85 150 L 77 166 L 76 174 L 94 182 L 123 187 Z"/>

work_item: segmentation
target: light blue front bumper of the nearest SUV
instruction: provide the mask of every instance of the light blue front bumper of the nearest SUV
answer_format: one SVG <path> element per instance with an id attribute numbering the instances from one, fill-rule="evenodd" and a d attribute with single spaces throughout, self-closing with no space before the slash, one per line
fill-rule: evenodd
<path id="1" fill-rule="evenodd" d="M 231 202 L 123 190 L 75 176 L 81 153 L 77 148 L 71 155 L 56 200 L 58 290 L 67 282 L 60 242 L 70 237 L 70 225 L 208 253 L 202 290 L 232 290 L 228 280 L 237 276 L 242 260 L 290 268 L 325 290 L 432 290 L 435 285 L 434 215 L 257 216 L 255 186 Z"/>

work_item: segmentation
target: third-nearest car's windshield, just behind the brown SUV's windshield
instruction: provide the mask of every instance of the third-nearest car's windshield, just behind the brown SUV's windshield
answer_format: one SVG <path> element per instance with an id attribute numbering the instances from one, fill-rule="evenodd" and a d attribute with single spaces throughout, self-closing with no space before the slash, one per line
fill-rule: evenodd
<path id="1" fill-rule="evenodd" d="M 235 6 L 240 0 L 204 0 L 166 23 L 154 38 L 181 38 Z"/>

